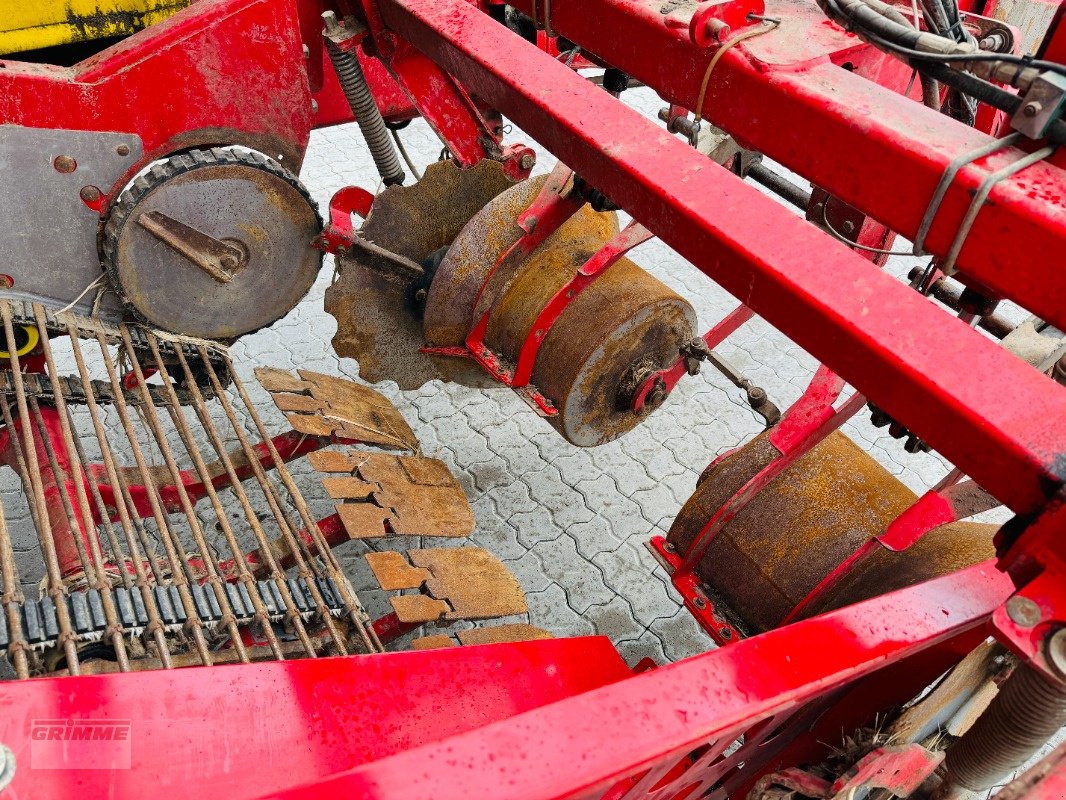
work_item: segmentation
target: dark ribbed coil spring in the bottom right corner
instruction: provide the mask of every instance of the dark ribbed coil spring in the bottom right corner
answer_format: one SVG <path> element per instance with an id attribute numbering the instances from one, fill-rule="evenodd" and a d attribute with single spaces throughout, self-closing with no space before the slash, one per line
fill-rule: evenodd
<path id="1" fill-rule="evenodd" d="M 1019 667 L 973 726 L 948 750 L 939 796 L 950 796 L 955 787 L 980 791 L 995 786 L 1064 724 L 1066 689 L 1031 667 Z"/>

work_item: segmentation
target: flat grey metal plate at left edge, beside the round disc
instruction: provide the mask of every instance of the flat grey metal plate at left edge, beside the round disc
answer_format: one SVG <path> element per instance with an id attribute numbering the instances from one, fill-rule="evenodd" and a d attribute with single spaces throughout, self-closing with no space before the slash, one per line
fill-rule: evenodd
<path id="1" fill-rule="evenodd" d="M 128 154 L 119 155 L 119 146 Z M 96 240 L 100 220 L 82 202 L 81 189 L 95 186 L 107 193 L 141 153 L 133 133 L 0 125 L 0 273 L 15 282 L 0 297 L 62 306 L 103 274 Z M 53 165 L 59 156 L 74 158 L 77 169 L 59 172 Z M 95 298 L 87 292 L 77 309 L 90 313 Z M 111 291 L 97 313 L 109 320 L 124 316 Z"/>

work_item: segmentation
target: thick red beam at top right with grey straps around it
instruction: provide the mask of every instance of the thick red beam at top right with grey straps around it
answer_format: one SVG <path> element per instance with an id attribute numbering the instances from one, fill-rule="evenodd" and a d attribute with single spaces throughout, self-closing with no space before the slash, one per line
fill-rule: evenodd
<path id="1" fill-rule="evenodd" d="M 515 5 L 531 11 L 531 0 Z M 694 109 L 713 50 L 694 45 L 687 29 L 667 26 L 662 5 L 552 0 L 551 25 L 664 98 Z M 723 57 L 705 116 L 912 238 L 949 162 L 991 138 L 860 77 L 870 48 L 829 22 L 813 0 L 769 0 L 765 13 L 784 19 L 781 27 Z M 857 71 L 838 66 L 845 62 Z M 1021 155 L 1007 149 L 956 178 L 927 237 L 930 252 L 947 253 L 981 180 Z M 1003 180 L 987 206 L 959 255 L 960 269 L 1043 318 L 1066 323 L 1066 171 L 1033 165 Z"/>

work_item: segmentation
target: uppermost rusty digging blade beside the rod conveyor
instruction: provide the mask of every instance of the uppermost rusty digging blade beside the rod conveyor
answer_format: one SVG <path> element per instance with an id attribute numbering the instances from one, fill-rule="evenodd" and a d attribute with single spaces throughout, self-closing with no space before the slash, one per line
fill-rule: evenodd
<path id="1" fill-rule="evenodd" d="M 356 439 L 389 450 L 418 450 L 407 420 L 384 395 L 342 378 L 260 368 L 256 378 L 271 393 L 294 430 L 310 436 Z"/>

